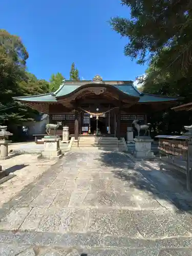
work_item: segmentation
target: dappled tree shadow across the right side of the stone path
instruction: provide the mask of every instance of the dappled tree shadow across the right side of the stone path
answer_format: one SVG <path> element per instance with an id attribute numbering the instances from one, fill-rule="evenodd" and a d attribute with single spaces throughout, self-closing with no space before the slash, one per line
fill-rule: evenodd
<path id="1" fill-rule="evenodd" d="M 135 161 L 119 152 L 102 152 L 98 161 L 114 168 L 114 176 L 129 187 L 144 190 L 157 200 L 171 202 L 178 210 L 192 210 L 192 193 L 186 190 L 186 176 L 176 169 L 165 165 L 160 172 L 158 161 Z"/>

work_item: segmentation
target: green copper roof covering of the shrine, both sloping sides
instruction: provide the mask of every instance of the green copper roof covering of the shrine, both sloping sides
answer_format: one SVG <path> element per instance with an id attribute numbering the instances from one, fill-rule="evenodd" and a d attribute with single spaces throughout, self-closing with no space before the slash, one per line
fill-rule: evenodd
<path id="1" fill-rule="evenodd" d="M 165 97 L 165 96 L 141 93 L 137 90 L 136 87 L 133 86 L 133 83 L 130 81 L 123 82 L 122 84 L 117 84 L 117 83 L 112 84 L 110 81 L 105 81 L 105 82 L 106 84 L 110 84 L 112 87 L 117 88 L 119 91 L 123 92 L 124 94 L 140 97 L 139 102 L 141 103 L 178 100 L 178 98 L 174 98 L 174 97 Z M 74 84 L 72 83 L 73 83 L 72 81 L 70 82 L 66 81 L 62 83 L 59 89 L 54 93 L 40 94 L 35 96 L 14 97 L 13 99 L 19 100 L 19 101 L 31 101 L 31 102 L 57 102 L 58 97 L 68 95 L 74 92 L 79 87 L 92 83 L 92 81 L 83 81 L 83 82 L 79 81 L 79 82 L 74 82 Z M 98 86 L 102 86 L 102 83 L 98 83 Z"/>

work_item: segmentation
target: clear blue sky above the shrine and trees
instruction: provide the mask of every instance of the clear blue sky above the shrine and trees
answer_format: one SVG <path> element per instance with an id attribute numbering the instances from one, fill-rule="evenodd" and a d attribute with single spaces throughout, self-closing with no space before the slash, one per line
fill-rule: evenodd
<path id="1" fill-rule="evenodd" d="M 28 71 L 39 79 L 57 72 L 69 79 L 75 62 L 81 79 L 135 80 L 146 66 L 124 56 L 127 38 L 108 23 L 129 13 L 120 0 L 1 0 L 1 28 L 22 38 Z"/>

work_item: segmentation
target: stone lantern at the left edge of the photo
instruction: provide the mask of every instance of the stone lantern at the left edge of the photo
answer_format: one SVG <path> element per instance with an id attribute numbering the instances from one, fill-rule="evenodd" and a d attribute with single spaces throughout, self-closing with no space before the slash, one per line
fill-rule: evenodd
<path id="1" fill-rule="evenodd" d="M 0 126 L 0 148 L 1 154 L 0 159 L 7 159 L 8 156 L 8 144 L 11 143 L 11 140 L 8 139 L 9 136 L 13 134 L 7 131 L 7 126 Z"/>

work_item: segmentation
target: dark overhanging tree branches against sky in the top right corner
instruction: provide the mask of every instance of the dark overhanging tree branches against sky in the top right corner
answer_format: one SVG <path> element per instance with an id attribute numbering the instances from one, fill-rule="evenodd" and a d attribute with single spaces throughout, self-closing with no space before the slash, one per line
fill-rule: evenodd
<path id="1" fill-rule="evenodd" d="M 113 17 L 111 25 L 127 37 L 125 55 L 138 63 L 158 56 L 156 66 L 175 79 L 187 77 L 192 57 L 192 2 L 190 0 L 121 0 L 130 18 Z"/>

